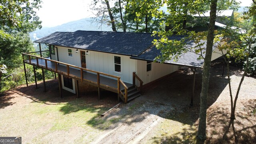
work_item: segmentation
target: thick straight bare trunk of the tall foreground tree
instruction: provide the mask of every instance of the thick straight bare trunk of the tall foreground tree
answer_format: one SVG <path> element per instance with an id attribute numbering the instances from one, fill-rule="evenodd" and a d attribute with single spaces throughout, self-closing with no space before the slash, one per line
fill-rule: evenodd
<path id="1" fill-rule="evenodd" d="M 204 58 L 204 69 L 202 74 L 202 90 L 200 94 L 200 115 L 198 132 L 196 136 L 196 144 L 204 144 L 206 140 L 206 110 L 207 110 L 207 96 L 210 76 L 210 65 L 212 57 L 212 46 L 214 40 L 214 26 L 216 20 L 216 8 L 218 0 L 211 0 L 210 22 L 207 35 L 206 54 Z"/>

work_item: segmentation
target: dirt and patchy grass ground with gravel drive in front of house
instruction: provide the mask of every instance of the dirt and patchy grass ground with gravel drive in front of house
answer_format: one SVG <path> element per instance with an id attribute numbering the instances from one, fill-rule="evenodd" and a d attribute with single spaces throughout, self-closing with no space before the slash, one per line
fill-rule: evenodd
<path id="1" fill-rule="evenodd" d="M 242 72 L 232 67 L 233 95 Z M 256 143 L 256 79 L 246 77 L 230 123 L 228 81 L 222 78 L 222 63 L 211 66 L 207 110 L 206 143 Z M 31 84 L 10 90 L 0 97 L 0 136 L 22 136 L 23 143 L 93 144 L 184 144 L 195 143 L 198 127 L 202 70 L 196 71 L 194 104 L 192 72 L 183 69 L 144 89 L 143 95 L 128 104 L 118 104 L 117 95 L 97 92 L 76 98 L 64 92 L 59 97 L 58 81 Z"/>

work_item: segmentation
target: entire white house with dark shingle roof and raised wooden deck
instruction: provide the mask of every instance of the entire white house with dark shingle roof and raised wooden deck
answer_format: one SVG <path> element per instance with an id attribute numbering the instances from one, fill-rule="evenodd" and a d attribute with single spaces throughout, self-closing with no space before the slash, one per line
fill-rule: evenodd
<path id="1" fill-rule="evenodd" d="M 50 50 L 23 54 L 24 63 L 58 73 L 60 93 L 63 88 L 79 96 L 80 92 L 98 88 L 100 96 L 102 88 L 118 93 L 118 99 L 124 102 L 140 95 L 142 83 L 150 84 L 177 71 L 179 66 L 203 68 L 204 60 L 198 60 L 199 56 L 193 52 L 183 54 L 177 62 L 153 62 L 161 52 L 152 45 L 152 41 L 158 38 L 151 35 L 100 31 L 54 32 L 35 41 L 39 46 L 48 45 Z M 183 37 L 171 36 L 170 39 Z M 188 42 L 188 45 L 193 47 L 194 43 Z M 217 50 L 214 48 L 213 51 Z M 213 52 L 212 60 L 220 56 Z"/>

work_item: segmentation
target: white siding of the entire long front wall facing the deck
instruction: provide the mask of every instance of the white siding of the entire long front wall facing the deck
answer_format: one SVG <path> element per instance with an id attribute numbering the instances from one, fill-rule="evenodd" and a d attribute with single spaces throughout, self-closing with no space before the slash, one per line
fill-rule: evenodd
<path id="1" fill-rule="evenodd" d="M 68 56 L 68 49 L 72 49 L 72 57 Z M 76 48 L 58 46 L 59 61 L 81 67 L 80 51 L 81 50 L 78 49 L 78 53 L 76 53 Z M 120 76 L 121 80 L 124 82 L 132 83 L 132 72 L 136 71 L 136 60 L 130 59 L 130 56 L 95 51 L 88 52 L 89 54 L 86 55 L 86 68 Z M 114 56 L 121 57 L 121 72 L 114 72 Z"/>

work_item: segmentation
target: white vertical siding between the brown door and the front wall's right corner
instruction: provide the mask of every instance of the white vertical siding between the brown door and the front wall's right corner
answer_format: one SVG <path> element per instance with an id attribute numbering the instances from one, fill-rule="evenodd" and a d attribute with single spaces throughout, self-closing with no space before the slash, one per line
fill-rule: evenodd
<path id="1" fill-rule="evenodd" d="M 122 81 L 132 84 L 132 72 L 136 71 L 136 60 L 130 59 L 130 56 L 95 51 L 88 52 L 89 54 L 86 55 L 86 68 L 120 76 Z M 115 72 L 114 70 L 114 56 L 121 57 L 121 72 Z"/>

